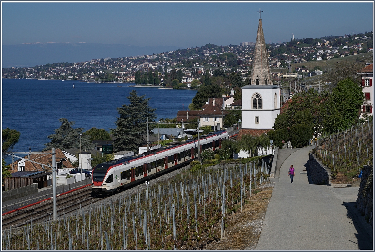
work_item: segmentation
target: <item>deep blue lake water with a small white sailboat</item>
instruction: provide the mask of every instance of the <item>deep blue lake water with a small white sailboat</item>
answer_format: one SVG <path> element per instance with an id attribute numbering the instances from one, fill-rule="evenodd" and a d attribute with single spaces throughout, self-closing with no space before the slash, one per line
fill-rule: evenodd
<path id="1" fill-rule="evenodd" d="M 73 84 L 75 89 L 73 89 Z M 117 87 L 117 85 L 122 87 Z M 3 79 L 3 129 L 18 130 L 19 142 L 13 151 L 41 151 L 48 135 L 60 127 L 58 119 L 75 121 L 73 127 L 85 130 L 115 128 L 117 107 L 129 104 L 129 92 L 150 99 L 157 118 L 174 118 L 187 110 L 196 90 L 171 90 L 158 87 L 129 87 L 124 83 L 86 83 L 61 80 Z M 9 159 L 7 159 L 8 161 Z M 9 162 L 7 162 L 9 163 Z"/>

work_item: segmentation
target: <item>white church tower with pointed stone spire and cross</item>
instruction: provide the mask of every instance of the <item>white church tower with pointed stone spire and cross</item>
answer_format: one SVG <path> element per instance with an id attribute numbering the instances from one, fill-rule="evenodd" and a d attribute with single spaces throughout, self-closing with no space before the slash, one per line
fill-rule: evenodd
<path id="1" fill-rule="evenodd" d="M 267 133 L 273 129 L 278 114 L 280 87 L 272 82 L 262 20 L 259 19 L 250 83 L 242 87 L 242 130 L 239 136 Z"/>

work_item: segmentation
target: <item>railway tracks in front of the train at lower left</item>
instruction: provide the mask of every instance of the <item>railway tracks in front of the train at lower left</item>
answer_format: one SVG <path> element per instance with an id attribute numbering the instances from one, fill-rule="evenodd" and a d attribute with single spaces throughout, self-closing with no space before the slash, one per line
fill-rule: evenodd
<path id="1" fill-rule="evenodd" d="M 93 195 L 90 189 L 85 189 L 81 192 L 77 192 L 71 195 L 69 194 L 64 198 L 57 199 L 57 213 L 70 213 L 71 211 L 75 211 L 77 209 L 77 206 L 84 207 L 86 205 L 92 204 L 96 201 L 99 201 L 107 197 L 108 196 Z M 47 204 L 40 205 L 37 207 L 35 207 L 34 205 L 30 208 L 25 208 L 21 211 L 22 213 L 18 212 L 12 214 L 9 217 L 3 217 L 3 229 L 7 227 L 9 228 L 10 226 L 12 228 L 23 226 L 26 223 L 30 222 L 36 223 L 41 219 L 53 216 L 53 202 L 52 200 L 50 200 Z"/>

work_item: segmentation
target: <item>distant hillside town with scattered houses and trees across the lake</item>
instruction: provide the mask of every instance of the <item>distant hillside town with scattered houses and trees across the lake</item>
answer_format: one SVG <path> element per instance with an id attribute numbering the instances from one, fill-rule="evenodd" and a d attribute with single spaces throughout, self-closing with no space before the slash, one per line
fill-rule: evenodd
<path id="1" fill-rule="evenodd" d="M 319 62 L 372 51 L 372 31 L 364 34 L 291 39 L 266 44 L 275 81 L 322 74 L 321 68 L 303 67 Z M 272 42 L 272 43 L 271 43 Z M 135 82 L 177 88 L 196 88 L 208 73 L 221 78 L 220 86 L 243 86 L 251 71 L 255 42 L 219 46 L 207 44 L 152 55 L 100 58 L 78 63 L 53 63 L 28 68 L 3 68 L 3 78 L 81 80 L 88 82 Z M 299 68 L 290 64 L 300 63 Z M 276 69 L 276 70 L 274 70 Z M 280 69 L 279 71 L 277 69 Z M 208 72 L 207 72 L 208 71 Z M 214 72 L 216 71 L 216 74 Z M 217 81 L 218 80 L 211 80 Z M 228 86 L 229 85 L 229 86 Z"/>

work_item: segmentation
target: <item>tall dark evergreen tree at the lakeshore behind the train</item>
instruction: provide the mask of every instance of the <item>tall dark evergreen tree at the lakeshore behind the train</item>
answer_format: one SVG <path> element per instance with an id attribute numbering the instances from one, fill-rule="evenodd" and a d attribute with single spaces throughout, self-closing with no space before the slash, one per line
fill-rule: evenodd
<path id="1" fill-rule="evenodd" d="M 117 139 L 114 141 L 116 151 L 138 152 L 139 146 L 145 143 L 144 135 L 147 134 L 146 117 L 149 121 L 156 119 L 155 110 L 149 106 L 151 98 L 144 98 L 145 95 L 138 96 L 133 90 L 127 99 L 129 105 L 122 105 L 117 108 L 119 117 L 115 124 L 117 128 L 111 129 Z M 152 135 L 152 124 L 148 126 L 148 133 Z"/>

